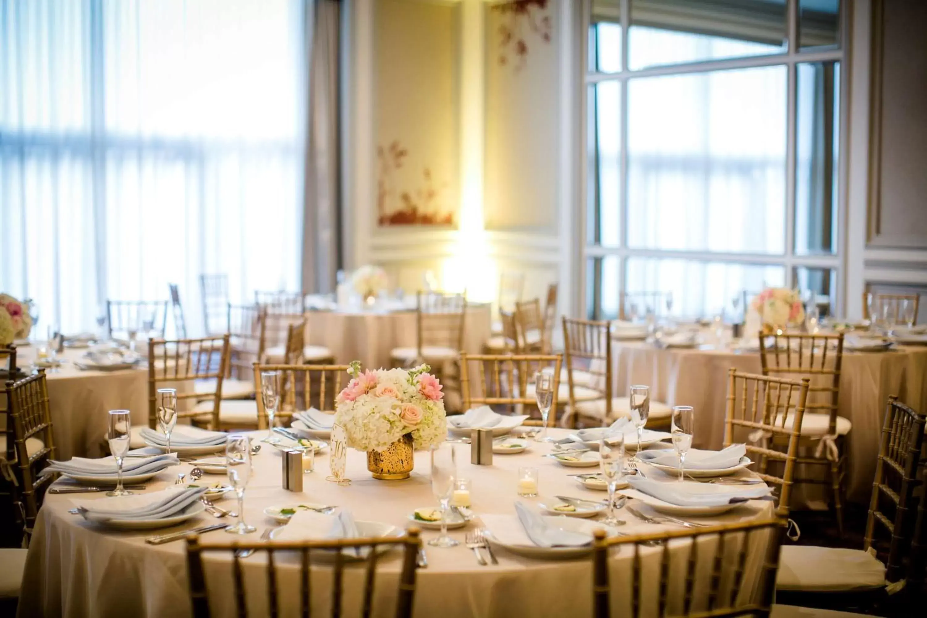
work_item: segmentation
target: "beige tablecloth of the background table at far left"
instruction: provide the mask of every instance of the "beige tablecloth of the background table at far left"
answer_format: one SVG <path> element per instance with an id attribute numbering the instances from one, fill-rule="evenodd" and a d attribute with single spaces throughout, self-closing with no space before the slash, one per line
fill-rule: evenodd
<path id="1" fill-rule="evenodd" d="M 27 371 L 37 347 L 17 348 L 17 364 Z M 148 423 L 148 371 L 145 366 L 114 372 L 84 371 L 74 364 L 85 349 L 65 348 L 60 367 L 46 369 L 55 459 L 100 457 L 108 430 L 107 410 L 129 410 L 133 424 Z"/>

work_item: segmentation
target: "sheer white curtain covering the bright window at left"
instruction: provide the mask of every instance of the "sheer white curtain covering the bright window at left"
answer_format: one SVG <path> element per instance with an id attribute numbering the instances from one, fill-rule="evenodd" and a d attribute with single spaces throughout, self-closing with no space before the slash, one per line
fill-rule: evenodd
<path id="1" fill-rule="evenodd" d="M 39 333 L 197 278 L 299 289 L 305 4 L 0 0 L 0 289 Z"/>

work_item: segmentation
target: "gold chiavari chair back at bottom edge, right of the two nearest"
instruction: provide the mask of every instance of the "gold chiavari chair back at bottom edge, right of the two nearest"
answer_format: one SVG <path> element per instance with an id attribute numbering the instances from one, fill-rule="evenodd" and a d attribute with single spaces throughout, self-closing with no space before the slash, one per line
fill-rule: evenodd
<path id="1" fill-rule="evenodd" d="M 778 518 L 611 538 L 596 530 L 595 617 L 765 618 L 783 530 Z M 627 568 L 609 568 L 623 558 Z"/>

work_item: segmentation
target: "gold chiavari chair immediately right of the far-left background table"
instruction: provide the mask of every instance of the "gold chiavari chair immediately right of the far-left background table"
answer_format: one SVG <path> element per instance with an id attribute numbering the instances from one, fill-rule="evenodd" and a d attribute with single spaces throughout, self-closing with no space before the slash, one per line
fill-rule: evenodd
<path id="1" fill-rule="evenodd" d="M 218 364 L 214 359 L 218 358 Z M 192 419 L 210 429 L 235 425 L 233 419 L 222 418 L 226 404 L 251 404 L 253 424 L 257 424 L 258 410 L 254 401 L 222 402 L 222 385 L 229 362 L 229 335 L 200 339 L 148 340 L 148 427 L 157 427 L 158 389 L 177 389 L 177 419 Z M 197 381 L 209 381 L 214 391 L 197 391 Z M 209 398 L 207 398 L 209 397 Z M 222 410 L 222 411 L 221 411 Z M 133 444 L 144 441 L 133 427 Z"/>

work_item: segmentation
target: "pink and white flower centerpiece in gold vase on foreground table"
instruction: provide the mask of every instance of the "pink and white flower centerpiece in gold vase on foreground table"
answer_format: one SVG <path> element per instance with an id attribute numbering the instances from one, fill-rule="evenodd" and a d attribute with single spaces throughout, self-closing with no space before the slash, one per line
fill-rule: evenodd
<path id="1" fill-rule="evenodd" d="M 413 450 L 447 439 L 442 386 L 429 369 L 361 372 L 359 361 L 350 364 L 351 381 L 338 394 L 335 423 L 345 428 L 350 448 L 367 451 L 374 478 L 409 478 Z"/>

